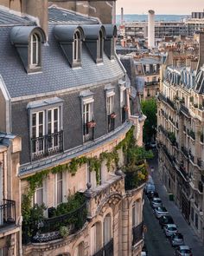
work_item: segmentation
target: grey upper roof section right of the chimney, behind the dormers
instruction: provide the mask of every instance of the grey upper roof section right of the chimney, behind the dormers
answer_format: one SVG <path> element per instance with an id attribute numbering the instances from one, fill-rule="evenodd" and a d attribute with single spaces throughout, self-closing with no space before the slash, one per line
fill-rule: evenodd
<path id="1" fill-rule="evenodd" d="M 90 16 L 83 16 L 70 10 L 64 10 L 57 7 L 48 9 L 49 23 L 69 23 L 69 24 L 98 24 L 99 20 Z"/>

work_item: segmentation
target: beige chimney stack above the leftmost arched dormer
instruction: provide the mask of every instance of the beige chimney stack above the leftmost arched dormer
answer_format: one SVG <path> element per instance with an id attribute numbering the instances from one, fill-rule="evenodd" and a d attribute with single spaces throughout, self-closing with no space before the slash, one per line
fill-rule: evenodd
<path id="1" fill-rule="evenodd" d="M 35 16 L 48 38 L 48 0 L 22 0 L 22 13 Z"/>

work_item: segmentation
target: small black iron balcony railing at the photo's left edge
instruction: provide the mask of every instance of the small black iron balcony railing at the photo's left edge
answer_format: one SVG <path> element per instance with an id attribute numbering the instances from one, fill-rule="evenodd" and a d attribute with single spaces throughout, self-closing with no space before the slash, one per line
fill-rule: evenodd
<path id="1" fill-rule="evenodd" d="M 16 202 L 3 199 L 0 201 L 0 228 L 16 223 Z"/>

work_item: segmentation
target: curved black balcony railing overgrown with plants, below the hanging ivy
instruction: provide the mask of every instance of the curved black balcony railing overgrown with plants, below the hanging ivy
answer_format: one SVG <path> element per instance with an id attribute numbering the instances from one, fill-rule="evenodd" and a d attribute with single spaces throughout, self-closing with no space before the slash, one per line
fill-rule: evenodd
<path id="1" fill-rule="evenodd" d="M 38 220 L 26 225 L 22 222 L 23 244 L 42 243 L 50 240 L 61 239 L 61 226 L 67 226 L 68 234 L 80 230 L 87 217 L 86 202 L 77 210 L 61 216 Z"/>

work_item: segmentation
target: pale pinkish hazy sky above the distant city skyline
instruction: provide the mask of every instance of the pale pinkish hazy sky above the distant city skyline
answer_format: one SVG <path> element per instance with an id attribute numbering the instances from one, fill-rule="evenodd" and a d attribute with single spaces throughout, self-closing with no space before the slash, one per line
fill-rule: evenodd
<path id="1" fill-rule="evenodd" d="M 117 0 L 117 14 L 121 7 L 124 14 L 147 14 L 150 9 L 156 14 L 191 14 L 204 9 L 204 0 Z"/>

